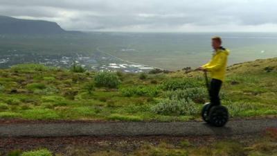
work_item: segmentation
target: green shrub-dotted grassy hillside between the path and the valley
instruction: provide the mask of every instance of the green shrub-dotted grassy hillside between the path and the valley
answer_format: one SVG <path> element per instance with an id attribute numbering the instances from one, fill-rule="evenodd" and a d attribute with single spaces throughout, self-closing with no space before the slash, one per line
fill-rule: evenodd
<path id="1" fill-rule="evenodd" d="M 97 73 L 19 64 L 0 70 L 1 119 L 199 120 L 202 73 Z M 228 68 L 222 103 L 232 117 L 277 114 L 277 58 Z"/>

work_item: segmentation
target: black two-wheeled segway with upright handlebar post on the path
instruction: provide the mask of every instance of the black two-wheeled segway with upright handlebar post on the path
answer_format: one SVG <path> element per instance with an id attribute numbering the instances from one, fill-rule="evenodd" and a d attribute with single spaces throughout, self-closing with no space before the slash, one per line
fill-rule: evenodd
<path id="1" fill-rule="evenodd" d="M 204 78 L 209 92 L 210 85 L 208 83 L 208 76 L 206 71 L 204 72 Z M 229 119 L 229 112 L 223 105 L 211 105 L 211 103 L 205 103 L 201 114 L 202 119 L 206 121 L 206 123 L 210 123 L 216 127 L 224 126 Z"/>

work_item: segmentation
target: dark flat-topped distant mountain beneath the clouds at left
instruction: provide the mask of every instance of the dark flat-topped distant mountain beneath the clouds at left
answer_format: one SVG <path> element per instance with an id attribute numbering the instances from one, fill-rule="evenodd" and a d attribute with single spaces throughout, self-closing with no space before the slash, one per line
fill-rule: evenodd
<path id="1" fill-rule="evenodd" d="M 13 17 L 0 16 L 0 34 L 17 35 L 53 35 L 80 33 L 78 31 L 65 31 L 57 23 L 52 21 L 16 19 Z"/>

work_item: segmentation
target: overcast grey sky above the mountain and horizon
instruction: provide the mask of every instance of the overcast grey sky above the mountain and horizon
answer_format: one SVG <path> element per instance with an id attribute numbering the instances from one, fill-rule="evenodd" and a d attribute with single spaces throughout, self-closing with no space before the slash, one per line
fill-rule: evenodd
<path id="1" fill-rule="evenodd" d="M 66 30 L 277 32 L 276 0 L 0 0 L 0 15 Z"/>

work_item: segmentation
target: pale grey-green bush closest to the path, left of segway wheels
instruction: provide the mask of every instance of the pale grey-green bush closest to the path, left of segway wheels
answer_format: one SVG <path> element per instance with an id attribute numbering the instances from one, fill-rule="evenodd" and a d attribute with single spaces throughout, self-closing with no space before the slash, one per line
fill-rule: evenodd
<path id="1" fill-rule="evenodd" d="M 163 99 L 151 108 L 152 112 L 162 115 L 194 115 L 197 114 L 197 107 L 193 101 L 186 99 Z"/>

